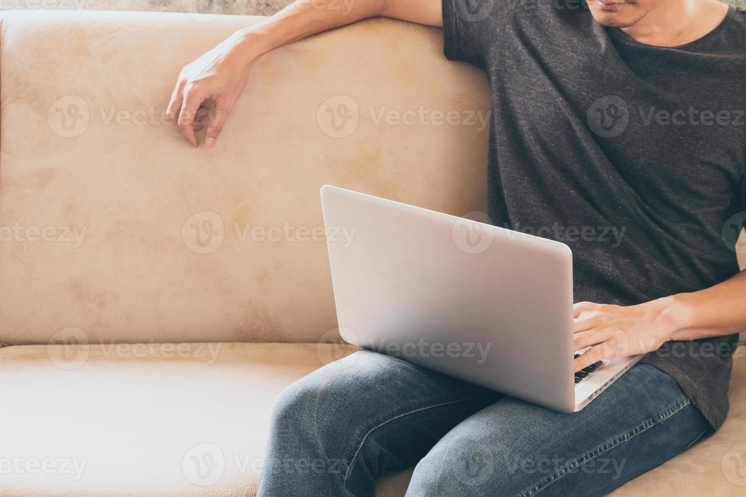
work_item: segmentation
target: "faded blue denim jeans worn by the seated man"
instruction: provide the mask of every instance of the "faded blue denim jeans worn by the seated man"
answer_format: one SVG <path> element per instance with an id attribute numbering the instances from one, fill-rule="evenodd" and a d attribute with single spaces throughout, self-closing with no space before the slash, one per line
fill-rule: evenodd
<path id="1" fill-rule="evenodd" d="M 561 414 L 363 350 L 283 391 L 259 497 L 368 497 L 415 466 L 413 496 L 602 496 L 709 429 L 677 382 L 638 363 Z"/>

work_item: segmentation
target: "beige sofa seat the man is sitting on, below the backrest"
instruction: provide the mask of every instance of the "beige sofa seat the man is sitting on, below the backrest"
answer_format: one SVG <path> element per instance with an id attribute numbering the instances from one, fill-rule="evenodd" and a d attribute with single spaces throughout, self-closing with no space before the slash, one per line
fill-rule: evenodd
<path id="1" fill-rule="evenodd" d="M 353 348 L 95 344 L 0 349 L 0 495 L 254 496 L 283 387 Z M 717 434 L 614 496 L 742 496 L 746 353 Z M 411 472 L 380 478 L 404 495 Z"/>

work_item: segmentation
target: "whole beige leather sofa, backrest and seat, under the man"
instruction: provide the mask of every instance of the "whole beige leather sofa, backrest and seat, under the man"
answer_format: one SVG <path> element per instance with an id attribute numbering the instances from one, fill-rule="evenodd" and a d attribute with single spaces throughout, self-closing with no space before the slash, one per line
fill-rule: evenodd
<path id="1" fill-rule="evenodd" d="M 275 397 L 349 352 L 319 187 L 484 210 L 485 77 L 362 22 L 261 60 L 195 150 L 172 84 L 258 18 L 0 19 L 0 495 L 254 495 Z M 721 431 L 614 495 L 744 495 L 739 352 Z"/>

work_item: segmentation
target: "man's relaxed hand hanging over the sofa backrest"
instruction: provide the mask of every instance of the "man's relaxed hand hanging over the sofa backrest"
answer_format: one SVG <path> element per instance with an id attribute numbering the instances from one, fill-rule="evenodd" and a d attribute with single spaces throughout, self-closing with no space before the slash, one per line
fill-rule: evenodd
<path id="1" fill-rule="evenodd" d="M 167 114 L 189 143 L 199 146 L 195 131 L 201 130 L 200 120 L 207 116 L 204 145 L 215 145 L 256 59 L 248 39 L 238 32 L 181 70 Z M 210 104 L 212 115 L 206 107 Z"/>

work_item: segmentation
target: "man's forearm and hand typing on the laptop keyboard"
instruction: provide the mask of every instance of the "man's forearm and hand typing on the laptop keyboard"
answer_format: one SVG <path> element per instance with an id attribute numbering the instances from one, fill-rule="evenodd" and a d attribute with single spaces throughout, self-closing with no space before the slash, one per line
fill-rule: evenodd
<path id="1" fill-rule="evenodd" d="M 580 302 L 574 311 L 575 371 L 603 358 L 644 354 L 670 340 L 746 331 L 746 270 L 705 290 L 637 306 Z"/>

